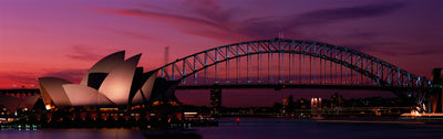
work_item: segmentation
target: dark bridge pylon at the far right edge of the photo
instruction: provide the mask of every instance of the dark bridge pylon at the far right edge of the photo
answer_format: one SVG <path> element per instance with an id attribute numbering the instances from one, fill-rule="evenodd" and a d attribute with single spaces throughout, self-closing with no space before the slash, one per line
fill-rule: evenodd
<path id="1" fill-rule="evenodd" d="M 443 92 L 442 92 L 442 68 L 434 68 L 431 76 L 431 95 L 430 95 L 430 110 L 431 113 L 443 113 Z"/>

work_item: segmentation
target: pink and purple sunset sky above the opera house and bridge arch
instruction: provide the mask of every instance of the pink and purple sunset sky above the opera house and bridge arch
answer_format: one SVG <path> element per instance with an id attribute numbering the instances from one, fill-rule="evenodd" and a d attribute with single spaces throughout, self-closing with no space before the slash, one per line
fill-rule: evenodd
<path id="1" fill-rule="evenodd" d="M 1 0 L 0 88 L 37 86 L 42 76 L 78 83 L 101 57 L 122 50 L 127 56 L 143 53 L 138 65 L 147 72 L 164 64 L 164 46 L 176 60 L 274 39 L 279 31 L 285 39 L 354 49 L 429 78 L 432 68 L 443 67 L 441 6 L 441 0 Z"/>

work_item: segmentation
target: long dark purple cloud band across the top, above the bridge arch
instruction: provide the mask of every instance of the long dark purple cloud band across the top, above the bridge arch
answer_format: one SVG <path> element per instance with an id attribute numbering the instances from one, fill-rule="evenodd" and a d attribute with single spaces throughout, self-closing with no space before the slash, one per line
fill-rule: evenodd
<path id="1" fill-rule="evenodd" d="M 172 24 L 178 28 L 178 31 L 186 34 L 205 36 L 219 41 L 245 41 L 276 38 L 279 30 L 284 31 L 287 36 L 295 38 L 296 35 L 302 34 L 302 32 L 293 31 L 300 26 L 381 17 L 398 11 L 404 7 L 404 3 L 389 2 L 360 7 L 321 9 L 301 14 L 293 14 L 292 17 L 258 17 L 248 19 L 238 19 L 234 13 L 241 12 L 239 9 L 225 8 L 217 0 L 186 0 L 183 3 L 185 11 L 183 11 L 183 9 L 165 9 L 143 3 L 132 6 L 141 8 L 95 10 L 103 13 L 136 17 Z M 377 34 L 362 32 L 353 35 L 356 38 L 367 38 Z M 298 39 L 302 38 L 298 36 Z"/>

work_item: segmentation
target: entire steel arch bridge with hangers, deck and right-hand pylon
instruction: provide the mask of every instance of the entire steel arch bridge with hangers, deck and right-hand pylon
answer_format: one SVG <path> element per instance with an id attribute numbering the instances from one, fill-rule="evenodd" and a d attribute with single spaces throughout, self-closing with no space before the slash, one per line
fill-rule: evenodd
<path id="1" fill-rule="evenodd" d="M 235 43 L 177 58 L 157 71 L 158 77 L 177 83 L 176 89 L 390 90 L 419 110 L 442 111 L 441 70 L 426 79 L 365 53 L 321 42 L 275 39 Z"/>

